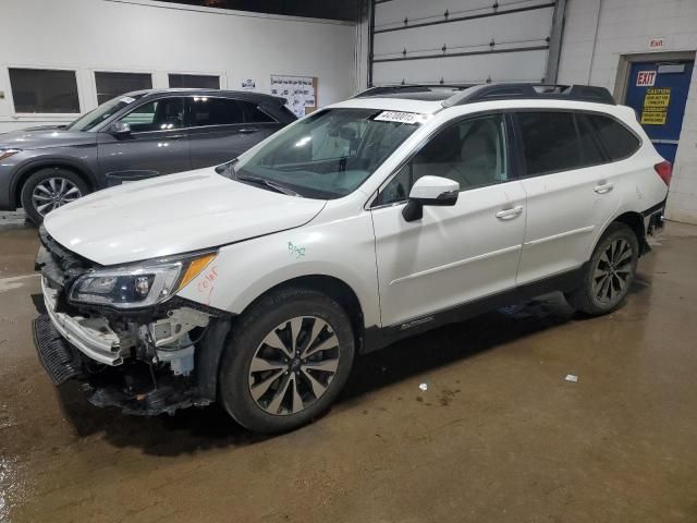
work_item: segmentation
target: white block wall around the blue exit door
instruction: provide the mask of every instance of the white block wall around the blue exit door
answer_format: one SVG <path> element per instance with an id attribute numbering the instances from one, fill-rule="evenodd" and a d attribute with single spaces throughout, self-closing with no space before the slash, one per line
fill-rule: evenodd
<path id="1" fill-rule="evenodd" d="M 566 0 L 559 83 L 589 83 L 615 90 L 620 57 L 660 50 L 697 50 L 696 0 Z M 697 223 L 697 69 L 673 169 L 667 217 Z M 615 92 L 616 94 L 616 92 Z"/>

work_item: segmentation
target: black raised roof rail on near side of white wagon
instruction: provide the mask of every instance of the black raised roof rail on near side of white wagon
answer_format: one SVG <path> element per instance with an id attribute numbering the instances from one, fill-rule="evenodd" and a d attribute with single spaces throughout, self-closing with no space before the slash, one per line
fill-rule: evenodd
<path id="1" fill-rule="evenodd" d="M 592 85 L 546 85 L 546 84 L 482 84 L 456 93 L 442 101 L 443 107 L 474 104 L 476 101 L 509 99 L 553 99 L 592 101 L 596 104 L 616 102 L 604 87 Z"/>

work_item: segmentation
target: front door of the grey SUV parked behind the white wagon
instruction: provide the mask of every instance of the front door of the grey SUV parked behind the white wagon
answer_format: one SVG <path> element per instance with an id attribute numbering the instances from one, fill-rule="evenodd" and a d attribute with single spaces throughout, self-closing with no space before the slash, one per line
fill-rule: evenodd
<path id="1" fill-rule="evenodd" d="M 131 132 L 99 133 L 99 169 L 108 185 L 187 171 L 189 144 L 184 129 L 184 98 L 145 102 L 121 118 Z"/>

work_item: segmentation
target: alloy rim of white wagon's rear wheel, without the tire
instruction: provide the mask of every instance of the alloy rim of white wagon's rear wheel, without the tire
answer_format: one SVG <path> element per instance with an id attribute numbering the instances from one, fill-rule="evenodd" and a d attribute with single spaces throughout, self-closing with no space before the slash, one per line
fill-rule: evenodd
<path id="1" fill-rule="evenodd" d="M 622 296 L 632 276 L 634 253 L 629 242 L 615 240 L 598 258 L 594 271 L 592 292 L 600 303 L 613 303 Z"/>

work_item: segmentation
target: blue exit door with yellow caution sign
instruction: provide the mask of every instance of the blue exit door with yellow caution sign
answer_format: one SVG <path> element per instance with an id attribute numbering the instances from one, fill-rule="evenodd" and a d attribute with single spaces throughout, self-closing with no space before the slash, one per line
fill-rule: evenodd
<path id="1" fill-rule="evenodd" d="M 632 63 L 626 105 L 633 107 L 658 153 L 675 162 L 693 61 Z"/>

